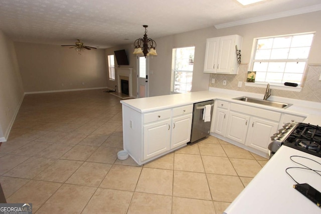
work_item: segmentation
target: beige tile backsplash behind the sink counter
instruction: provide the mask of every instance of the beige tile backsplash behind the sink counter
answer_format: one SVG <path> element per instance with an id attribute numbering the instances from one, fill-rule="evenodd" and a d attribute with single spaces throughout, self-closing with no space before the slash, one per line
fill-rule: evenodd
<path id="1" fill-rule="evenodd" d="M 240 64 L 239 72 L 237 75 L 211 74 L 210 87 L 259 93 L 262 94 L 263 97 L 263 94 L 265 93 L 265 88 L 250 87 L 244 85 L 247 76 L 247 67 L 248 64 Z M 321 81 L 319 81 L 320 75 L 321 65 L 308 65 L 306 68 L 305 83 L 300 92 L 272 89 L 271 96 L 286 97 L 291 99 L 306 100 L 312 102 L 321 102 Z M 215 78 L 214 84 L 211 83 L 212 78 Z M 226 80 L 226 85 L 223 85 L 223 80 Z M 239 81 L 242 82 L 241 88 L 237 87 Z"/>

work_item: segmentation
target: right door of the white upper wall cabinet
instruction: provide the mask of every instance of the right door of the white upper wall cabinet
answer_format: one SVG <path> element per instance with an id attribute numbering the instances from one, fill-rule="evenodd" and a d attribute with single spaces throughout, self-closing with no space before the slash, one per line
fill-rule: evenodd
<path id="1" fill-rule="evenodd" d="M 235 36 L 221 37 L 217 61 L 217 73 L 231 73 L 232 57 L 236 57 Z"/>

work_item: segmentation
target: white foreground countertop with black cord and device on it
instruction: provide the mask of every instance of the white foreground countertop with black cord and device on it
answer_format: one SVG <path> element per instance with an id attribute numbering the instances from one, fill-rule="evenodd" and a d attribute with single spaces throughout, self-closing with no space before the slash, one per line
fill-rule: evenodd
<path id="1" fill-rule="evenodd" d="M 277 214 L 277 213 L 321 213 L 321 208 L 293 188 L 295 182 L 286 174 L 291 166 L 302 167 L 292 160 L 291 155 L 311 158 L 321 163 L 321 158 L 281 146 L 245 189 L 224 211 L 227 214 Z M 321 165 L 311 160 L 294 157 L 295 161 L 321 170 Z M 304 169 L 289 169 L 288 172 L 299 183 L 308 183 L 321 192 L 321 176 Z"/>

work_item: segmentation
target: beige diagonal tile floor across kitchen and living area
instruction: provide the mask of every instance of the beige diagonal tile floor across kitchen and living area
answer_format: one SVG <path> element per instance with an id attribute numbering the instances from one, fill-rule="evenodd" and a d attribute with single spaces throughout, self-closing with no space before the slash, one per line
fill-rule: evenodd
<path id="1" fill-rule="evenodd" d="M 213 136 L 138 166 L 118 160 L 120 98 L 103 90 L 26 95 L 0 182 L 40 213 L 222 213 L 267 159 Z"/>

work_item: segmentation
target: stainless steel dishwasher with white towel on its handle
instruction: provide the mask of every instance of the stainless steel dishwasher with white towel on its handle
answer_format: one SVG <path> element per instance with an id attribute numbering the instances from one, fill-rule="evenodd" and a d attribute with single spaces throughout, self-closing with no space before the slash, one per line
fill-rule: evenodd
<path id="1" fill-rule="evenodd" d="M 205 122 L 203 119 L 203 114 L 205 113 L 206 105 L 211 105 L 211 117 L 212 117 L 214 100 L 194 103 L 191 143 L 210 135 L 212 120 Z"/>

